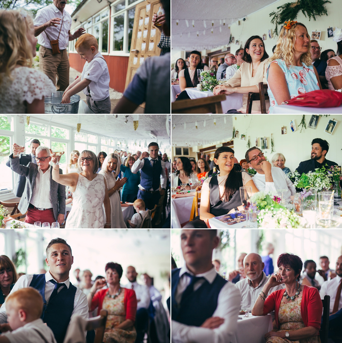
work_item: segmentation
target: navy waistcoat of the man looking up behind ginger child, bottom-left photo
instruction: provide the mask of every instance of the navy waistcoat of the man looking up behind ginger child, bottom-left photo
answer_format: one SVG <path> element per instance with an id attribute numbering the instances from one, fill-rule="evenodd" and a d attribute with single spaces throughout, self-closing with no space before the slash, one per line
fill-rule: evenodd
<path id="1" fill-rule="evenodd" d="M 45 274 L 35 274 L 33 275 L 30 287 L 37 289 L 44 301 L 43 313 L 40 318 L 52 330 L 57 343 L 63 343 L 66 329 L 68 329 L 71 314 L 74 310 L 77 288 L 70 282 L 69 288 L 63 287 L 46 305 L 45 283 Z"/>

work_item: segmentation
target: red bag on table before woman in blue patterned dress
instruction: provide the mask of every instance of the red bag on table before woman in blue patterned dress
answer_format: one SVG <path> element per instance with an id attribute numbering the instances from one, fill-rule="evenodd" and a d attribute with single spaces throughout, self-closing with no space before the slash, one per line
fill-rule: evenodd
<path id="1" fill-rule="evenodd" d="M 341 104 L 342 93 L 330 89 L 308 92 L 282 103 L 282 105 L 306 107 L 338 107 Z"/>

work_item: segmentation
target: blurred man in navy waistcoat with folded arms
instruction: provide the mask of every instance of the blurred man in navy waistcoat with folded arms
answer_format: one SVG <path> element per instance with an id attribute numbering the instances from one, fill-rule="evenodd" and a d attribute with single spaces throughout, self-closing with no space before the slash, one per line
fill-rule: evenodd
<path id="1" fill-rule="evenodd" d="M 172 342 L 229 343 L 237 328 L 241 295 L 212 265 L 216 229 L 183 229 L 185 265 L 171 271 Z"/>

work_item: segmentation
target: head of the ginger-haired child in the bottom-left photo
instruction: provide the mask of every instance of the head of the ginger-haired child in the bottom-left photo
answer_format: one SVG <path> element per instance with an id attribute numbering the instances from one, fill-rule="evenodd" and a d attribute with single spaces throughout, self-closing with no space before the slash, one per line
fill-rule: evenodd
<path id="1" fill-rule="evenodd" d="M 12 330 L 40 318 L 42 311 L 43 299 L 35 288 L 21 288 L 6 299 L 7 321 Z"/>

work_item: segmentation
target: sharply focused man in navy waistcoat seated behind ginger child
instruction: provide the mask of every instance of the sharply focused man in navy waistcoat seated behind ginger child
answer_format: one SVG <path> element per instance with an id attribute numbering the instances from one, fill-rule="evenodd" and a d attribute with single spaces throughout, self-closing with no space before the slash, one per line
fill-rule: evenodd
<path id="1" fill-rule="evenodd" d="M 11 293 L 20 288 L 37 289 L 44 301 L 41 319 L 52 330 L 56 341 L 63 343 L 71 317 L 88 319 L 86 295 L 73 286 L 69 279 L 74 262 L 71 247 L 62 238 L 50 241 L 46 248 L 46 264 L 50 270 L 46 274 L 26 274 L 15 283 Z M 10 294 L 11 294 L 10 293 Z M 7 321 L 6 302 L 0 308 L 0 323 Z M 84 333 L 84 341 L 86 332 Z"/>

